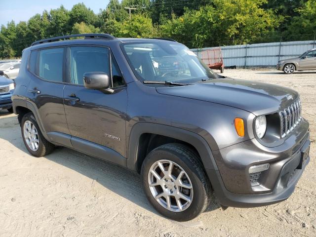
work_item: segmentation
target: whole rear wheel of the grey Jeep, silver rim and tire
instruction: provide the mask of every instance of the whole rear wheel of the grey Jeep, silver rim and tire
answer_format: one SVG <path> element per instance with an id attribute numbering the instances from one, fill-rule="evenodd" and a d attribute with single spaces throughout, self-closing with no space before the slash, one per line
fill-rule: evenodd
<path id="1" fill-rule="evenodd" d="M 39 124 L 32 113 L 27 113 L 21 121 L 23 142 L 35 157 L 43 157 L 51 153 L 54 145 L 48 142 L 40 131 Z"/>

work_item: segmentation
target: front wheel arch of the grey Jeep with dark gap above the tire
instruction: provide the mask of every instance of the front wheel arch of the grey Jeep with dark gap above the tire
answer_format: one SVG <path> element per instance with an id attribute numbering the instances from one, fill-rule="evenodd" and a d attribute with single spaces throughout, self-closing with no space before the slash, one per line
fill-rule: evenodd
<path id="1" fill-rule="evenodd" d="M 128 140 L 127 167 L 139 172 L 143 160 L 151 150 L 171 142 L 192 147 L 198 153 L 204 168 L 218 170 L 209 145 L 200 135 L 185 129 L 150 122 L 138 122 L 132 127 Z"/>

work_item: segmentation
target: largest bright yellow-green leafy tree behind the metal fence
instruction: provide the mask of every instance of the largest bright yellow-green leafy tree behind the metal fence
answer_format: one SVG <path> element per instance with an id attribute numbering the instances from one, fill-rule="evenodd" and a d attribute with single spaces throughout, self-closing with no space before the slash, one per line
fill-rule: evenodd
<path id="1" fill-rule="evenodd" d="M 213 0 L 214 6 L 188 10 L 167 20 L 161 34 L 190 47 L 254 42 L 267 37 L 282 18 L 260 6 L 266 0 Z"/>

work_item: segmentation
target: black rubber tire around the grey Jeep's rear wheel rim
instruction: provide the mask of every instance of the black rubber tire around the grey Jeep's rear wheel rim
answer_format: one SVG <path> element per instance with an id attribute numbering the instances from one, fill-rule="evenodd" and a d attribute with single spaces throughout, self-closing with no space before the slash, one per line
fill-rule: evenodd
<path id="1" fill-rule="evenodd" d="M 38 138 L 39 138 L 39 147 L 37 149 L 37 151 L 33 151 L 30 149 L 30 147 L 28 146 L 25 137 L 24 137 L 24 123 L 25 121 L 31 121 L 34 126 L 36 127 L 36 130 L 38 132 Z M 50 142 L 48 142 L 43 134 L 40 131 L 40 127 L 38 122 L 36 121 L 36 118 L 34 117 L 33 113 L 27 113 L 23 116 L 22 120 L 21 120 L 21 131 L 22 131 L 22 139 L 24 142 L 24 145 L 26 147 L 26 149 L 29 151 L 29 153 L 35 157 L 43 157 L 48 155 L 49 153 L 51 153 L 54 150 L 54 145 L 51 144 Z"/>

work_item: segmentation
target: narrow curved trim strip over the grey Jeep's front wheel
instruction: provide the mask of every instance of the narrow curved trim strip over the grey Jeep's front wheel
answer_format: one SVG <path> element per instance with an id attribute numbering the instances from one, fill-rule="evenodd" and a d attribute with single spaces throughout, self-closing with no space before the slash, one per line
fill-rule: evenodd
<path id="1" fill-rule="evenodd" d="M 187 142 L 197 149 L 206 169 L 218 170 L 212 151 L 203 137 L 185 129 L 151 122 L 138 122 L 131 129 L 127 156 L 127 168 L 131 170 L 136 171 L 139 138 L 143 133 L 154 133 Z"/>

